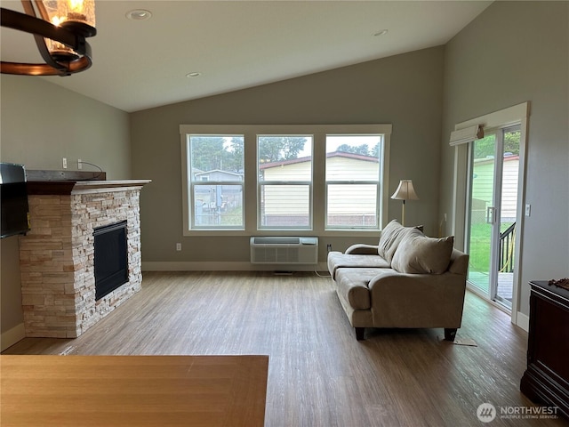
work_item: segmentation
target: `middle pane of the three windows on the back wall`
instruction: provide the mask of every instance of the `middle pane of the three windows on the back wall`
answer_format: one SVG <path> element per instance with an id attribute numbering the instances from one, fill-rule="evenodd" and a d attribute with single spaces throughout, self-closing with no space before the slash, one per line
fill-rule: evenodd
<path id="1" fill-rule="evenodd" d="M 258 135 L 259 229 L 312 225 L 312 135 Z"/>

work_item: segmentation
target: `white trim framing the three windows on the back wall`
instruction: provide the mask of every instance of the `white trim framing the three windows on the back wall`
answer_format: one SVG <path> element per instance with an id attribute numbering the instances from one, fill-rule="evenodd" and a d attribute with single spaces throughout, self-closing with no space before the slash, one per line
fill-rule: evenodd
<path id="1" fill-rule="evenodd" d="M 182 218 L 184 236 L 251 236 L 298 235 L 300 232 L 317 236 L 347 236 L 357 233 L 363 237 L 377 236 L 379 230 L 347 229 L 325 230 L 325 139 L 327 134 L 377 134 L 383 135 L 383 163 L 381 165 L 381 198 L 379 206 L 380 230 L 387 223 L 389 205 L 389 148 L 392 125 L 180 125 Z M 244 135 L 244 230 L 191 230 L 188 208 L 188 150 L 187 134 L 243 134 Z M 262 229 L 257 227 L 257 154 L 258 134 L 312 134 L 312 230 Z M 253 150 L 253 153 L 251 153 Z M 249 197 L 254 194 L 255 197 Z"/>

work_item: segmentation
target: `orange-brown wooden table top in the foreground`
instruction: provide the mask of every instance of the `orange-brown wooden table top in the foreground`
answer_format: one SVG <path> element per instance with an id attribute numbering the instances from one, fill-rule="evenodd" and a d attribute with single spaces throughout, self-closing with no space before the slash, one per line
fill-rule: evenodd
<path id="1" fill-rule="evenodd" d="M 268 356 L 0 356 L 0 424 L 262 426 Z"/>

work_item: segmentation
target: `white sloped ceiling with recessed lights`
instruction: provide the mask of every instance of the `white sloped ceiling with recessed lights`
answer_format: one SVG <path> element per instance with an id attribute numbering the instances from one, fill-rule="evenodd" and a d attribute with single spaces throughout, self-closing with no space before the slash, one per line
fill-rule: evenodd
<path id="1" fill-rule="evenodd" d="M 445 44 L 491 3 L 97 0 L 92 68 L 18 78 L 132 112 Z M 127 20 L 132 9 L 152 18 Z M 0 36 L 2 60 L 41 62 L 33 36 L 9 28 Z M 201 76 L 186 77 L 194 71 Z"/>

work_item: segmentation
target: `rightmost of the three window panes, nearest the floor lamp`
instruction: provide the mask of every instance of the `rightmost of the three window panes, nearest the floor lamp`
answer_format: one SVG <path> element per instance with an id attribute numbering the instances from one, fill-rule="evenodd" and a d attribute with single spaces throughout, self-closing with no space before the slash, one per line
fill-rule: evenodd
<path id="1" fill-rule="evenodd" d="M 326 135 L 326 229 L 377 229 L 383 135 Z"/>

